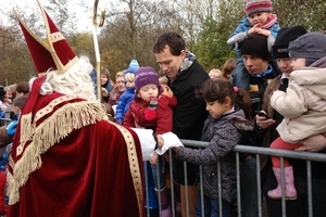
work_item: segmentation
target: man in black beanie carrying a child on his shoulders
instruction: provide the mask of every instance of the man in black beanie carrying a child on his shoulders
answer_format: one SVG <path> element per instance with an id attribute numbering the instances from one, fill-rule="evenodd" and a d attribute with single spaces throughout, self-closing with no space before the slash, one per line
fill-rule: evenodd
<path id="1" fill-rule="evenodd" d="M 272 59 L 267 47 L 267 37 L 260 34 L 251 34 L 241 44 L 240 50 L 244 67 L 250 74 L 248 91 L 251 97 L 251 108 L 253 112 L 261 111 L 263 94 L 268 84 L 277 77 L 280 72 Z M 260 145 L 261 138 L 253 135 L 251 144 Z M 240 188 L 242 216 L 258 216 L 258 183 L 256 162 L 254 155 L 248 155 L 241 164 Z"/>

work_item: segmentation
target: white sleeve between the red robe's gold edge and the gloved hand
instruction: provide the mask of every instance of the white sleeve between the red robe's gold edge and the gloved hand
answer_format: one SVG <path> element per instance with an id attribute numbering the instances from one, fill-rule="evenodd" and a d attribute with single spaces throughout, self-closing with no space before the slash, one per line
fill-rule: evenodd
<path id="1" fill-rule="evenodd" d="M 141 145 L 142 161 L 150 161 L 156 145 L 156 141 L 153 137 L 153 130 L 141 129 L 141 128 L 131 128 L 131 129 L 137 133 L 139 138 L 140 145 Z"/>

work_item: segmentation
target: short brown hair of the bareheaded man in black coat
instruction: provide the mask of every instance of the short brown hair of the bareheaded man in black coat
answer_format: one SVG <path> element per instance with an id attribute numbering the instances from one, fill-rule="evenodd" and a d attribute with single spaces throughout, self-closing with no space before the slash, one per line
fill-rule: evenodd
<path id="1" fill-rule="evenodd" d="M 183 50 L 186 50 L 186 43 L 183 37 L 176 31 L 163 33 L 159 36 L 153 47 L 154 53 L 160 53 L 165 46 L 170 47 L 172 55 L 180 55 Z"/>

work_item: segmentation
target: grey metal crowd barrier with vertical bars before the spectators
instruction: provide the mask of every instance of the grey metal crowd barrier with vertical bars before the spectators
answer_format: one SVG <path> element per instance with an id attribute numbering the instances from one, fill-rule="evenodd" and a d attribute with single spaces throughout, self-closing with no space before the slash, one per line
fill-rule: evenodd
<path id="1" fill-rule="evenodd" d="M 185 146 L 191 146 L 191 148 L 199 148 L 199 149 L 204 149 L 205 146 L 208 146 L 209 142 L 203 142 L 203 141 L 196 141 L 196 140 L 181 140 L 181 142 L 184 143 Z M 234 152 L 236 152 L 236 169 L 237 169 L 237 206 L 238 206 L 238 217 L 241 217 L 241 195 L 240 195 L 240 157 L 239 154 L 240 153 L 250 153 L 250 154 L 255 154 L 255 161 L 256 161 L 256 171 L 261 171 L 261 167 L 260 167 L 260 156 L 261 155 L 274 155 L 274 156 L 279 156 L 280 157 L 280 164 L 284 165 L 284 157 L 286 158 L 298 158 L 298 159 L 302 159 L 306 162 L 306 177 L 308 177 L 308 200 L 309 200 L 309 217 L 313 217 L 313 201 L 312 201 L 312 168 L 311 168 L 311 162 L 315 161 L 315 162 L 323 162 L 326 163 L 326 157 L 325 154 L 323 153 L 311 153 L 311 152 L 296 152 L 296 151 L 287 151 L 287 150 L 274 150 L 274 149 L 268 149 L 268 148 L 259 148 L 259 146 L 251 146 L 251 145 L 242 145 L 242 144 L 238 144 L 234 148 L 233 150 Z M 173 179 L 173 168 L 172 168 L 172 150 L 170 150 L 170 187 L 171 187 L 171 206 L 172 206 L 172 216 L 176 217 L 176 213 L 175 213 L 175 200 L 174 200 L 174 179 Z M 160 165 L 159 165 L 160 167 Z M 187 189 L 187 164 L 184 164 L 184 170 L 185 170 L 185 188 Z M 199 176 L 200 176 L 200 180 L 202 180 L 202 168 L 201 166 L 199 166 Z M 217 163 L 217 173 L 220 174 L 220 162 Z M 162 176 L 159 173 L 158 169 L 158 180 L 160 176 Z M 220 177 L 220 176 L 217 176 Z M 217 180 L 218 183 L 221 183 L 221 180 Z M 146 200 L 146 205 L 149 203 L 148 201 L 148 178 L 146 177 L 146 195 L 147 195 L 147 200 Z M 263 196 L 262 196 L 262 190 L 261 190 L 261 176 L 260 173 L 256 173 L 256 182 L 258 182 L 258 214 L 259 217 L 263 217 Z M 202 183 L 202 182 L 201 182 Z M 160 186 L 160 182 L 159 182 Z M 203 196 L 202 194 L 202 189 L 203 186 L 200 184 L 200 192 L 201 192 L 201 197 Z M 284 166 L 281 166 L 281 189 L 284 191 L 285 188 L 285 175 L 284 175 Z M 187 214 L 186 216 L 189 216 L 189 204 L 188 204 L 188 194 L 187 191 L 185 193 L 186 195 L 186 207 L 187 207 Z M 161 197 L 160 194 L 158 196 L 159 199 L 159 214 L 161 216 L 161 206 L 160 206 L 160 202 L 161 202 Z M 222 190 L 221 187 L 218 188 L 218 199 L 222 199 Z M 218 200 L 220 202 L 220 216 L 222 215 L 222 200 Z M 150 216 L 150 212 L 149 212 L 149 206 L 147 207 L 147 217 L 151 217 Z M 283 195 L 281 197 L 281 212 L 283 212 L 283 216 L 286 217 L 286 200 L 285 196 Z M 202 214 L 203 216 L 203 214 Z"/>

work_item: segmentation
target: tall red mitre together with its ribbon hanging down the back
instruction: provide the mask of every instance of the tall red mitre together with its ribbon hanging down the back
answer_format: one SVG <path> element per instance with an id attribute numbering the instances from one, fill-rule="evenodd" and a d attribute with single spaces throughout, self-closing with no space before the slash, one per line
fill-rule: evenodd
<path id="1" fill-rule="evenodd" d="M 46 13 L 39 1 L 37 3 L 41 10 L 42 17 L 46 25 L 46 40 L 38 37 L 30 28 L 27 27 L 26 23 L 22 21 L 17 12 L 14 10 L 15 15 L 18 20 L 20 26 L 24 34 L 25 40 L 27 42 L 34 65 L 38 73 L 38 78 L 33 81 L 32 89 L 29 92 L 28 100 L 26 101 L 24 108 L 22 110 L 21 118 L 26 118 L 24 120 L 26 125 L 29 126 L 29 132 L 24 131 L 24 137 L 21 138 L 21 125 L 18 125 L 16 135 L 20 138 L 20 142 L 26 142 L 33 132 L 33 115 L 36 113 L 35 102 L 40 97 L 39 90 L 42 82 L 46 80 L 46 75 L 48 71 L 55 72 L 58 74 L 65 73 L 72 65 L 74 65 L 78 58 L 76 56 L 73 49 L 70 47 L 65 38 L 59 31 L 55 24 L 52 22 L 50 16 Z M 30 117 L 28 117 L 28 115 Z M 26 117 L 25 117 L 26 116 Z"/>

